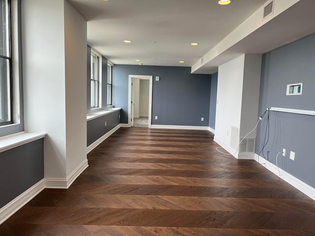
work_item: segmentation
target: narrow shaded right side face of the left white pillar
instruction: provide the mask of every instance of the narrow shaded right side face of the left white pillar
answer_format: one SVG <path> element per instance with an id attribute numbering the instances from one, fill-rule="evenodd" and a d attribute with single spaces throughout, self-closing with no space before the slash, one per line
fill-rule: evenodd
<path id="1" fill-rule="evenodd" d="M 87 22 L 64 1 L 66 176 L 87 159 Z"/>

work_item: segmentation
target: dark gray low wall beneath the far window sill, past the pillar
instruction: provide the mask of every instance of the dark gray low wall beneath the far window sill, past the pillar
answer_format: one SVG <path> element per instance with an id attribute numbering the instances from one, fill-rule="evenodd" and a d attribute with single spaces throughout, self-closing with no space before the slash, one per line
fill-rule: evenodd
<path id="1" fill-rule="evenodd" d="M 120 124 L 119 115 L 120 111 L 117 111 L 102 117 L 89 120 L 87 123 L 88 126 L 87 146 L 90 146 L 97 139 L 99 139 L 104 134 L 109 132 L 111 129 L 115 128 L 118 124 Z M 107 122 L 106 126 L 105 121 Z"/>

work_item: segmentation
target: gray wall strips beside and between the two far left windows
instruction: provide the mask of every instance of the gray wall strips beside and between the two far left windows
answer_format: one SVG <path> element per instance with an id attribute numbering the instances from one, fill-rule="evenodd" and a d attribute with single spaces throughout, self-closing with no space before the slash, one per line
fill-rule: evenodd
<path id="1" fill-rule="evenodd" d="M 104 110 L 107 107 L 107 59 L 102 57 L 102 107 L 91 110 L 91 47 L 87 50 L 87 113 Z"/>

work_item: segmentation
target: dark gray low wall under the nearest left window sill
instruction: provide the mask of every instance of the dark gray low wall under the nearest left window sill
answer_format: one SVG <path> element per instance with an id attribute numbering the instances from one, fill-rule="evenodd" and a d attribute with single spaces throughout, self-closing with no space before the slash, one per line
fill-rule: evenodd
<path id="1" fill-rule="evenodd" d="M 43 178 L 43 139 L 1 152 L 0 208 Z"/>

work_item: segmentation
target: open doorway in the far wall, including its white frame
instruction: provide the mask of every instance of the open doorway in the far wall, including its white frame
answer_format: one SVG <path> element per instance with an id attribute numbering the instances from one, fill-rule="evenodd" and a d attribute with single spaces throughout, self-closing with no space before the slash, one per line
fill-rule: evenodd
<path id="1" fill-rule="evenodd" d="M 128 126 L 151 127 L 153 76 L 129 75 Z"/>

